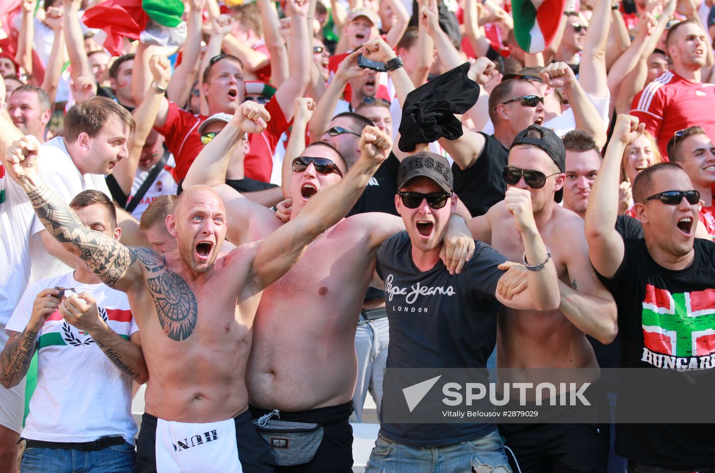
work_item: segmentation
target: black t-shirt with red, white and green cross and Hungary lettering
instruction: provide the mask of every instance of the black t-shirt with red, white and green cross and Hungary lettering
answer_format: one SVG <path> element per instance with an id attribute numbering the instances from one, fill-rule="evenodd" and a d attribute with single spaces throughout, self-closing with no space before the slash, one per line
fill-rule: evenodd
<path id="1" fill-rule="evenodd" d="M 626 239 L 621 267 L 611 279 L 599 278 L 618 306 L 618 334 L 623 368 L 664 369 L 671 381 L 687 386 L 687 372 L 715 374 L 711 354 L 715 344 L 715 244 L 695 239 L 695 257 L 686 269 L 673 271 L 657 264 L 645 239 Z M 691 308 L 693 310 L 691 310 Z M 685 371 L 685 372 L 684 372 Z M 660 386 L 660 385 L 659 385 Z M 617 414 L 628 405 L 658 412 L 679 402 L 703 403 L 711 393 L 688 399 L 661 394 L 621 377 Z M 696 393 L 697 394 L 697 393 Z M 694 404 L 696 405 L 696 404 Z M 671 469 L 715 467 L 715 426 L 711 424 L 616 424 L 616 452 L 634 462 Z"/>

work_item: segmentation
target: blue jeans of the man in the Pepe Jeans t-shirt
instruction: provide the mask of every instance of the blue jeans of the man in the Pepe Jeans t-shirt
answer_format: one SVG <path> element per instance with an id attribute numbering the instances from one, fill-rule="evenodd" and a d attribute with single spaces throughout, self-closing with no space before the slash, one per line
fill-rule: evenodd
<path id="1" fill-rule="evenodd" d="M 443 447 L 416 447 L 378 435 L 365 473 L 511 473 L 499 432 Z"/>

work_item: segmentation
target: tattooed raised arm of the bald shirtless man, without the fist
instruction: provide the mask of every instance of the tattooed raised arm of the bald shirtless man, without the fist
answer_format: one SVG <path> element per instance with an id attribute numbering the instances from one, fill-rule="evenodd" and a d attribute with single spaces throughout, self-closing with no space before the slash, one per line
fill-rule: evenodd
<path id="1" fill-rule="evenodd" d="M 46 184 L 29 191 L 27 196 L 52 236 L 79 249 L 79 256 L 87 262 L 89 269 L 109 287 L 114 287 L 136 261 L 134 254 L 117 240 L 84 227 L 74 210 L 58 199 Z"/>

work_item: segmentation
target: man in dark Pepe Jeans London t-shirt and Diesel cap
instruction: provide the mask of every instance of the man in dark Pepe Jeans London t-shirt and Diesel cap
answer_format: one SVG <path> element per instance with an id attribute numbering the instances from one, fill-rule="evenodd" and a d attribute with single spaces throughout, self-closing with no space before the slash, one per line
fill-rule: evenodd
<path id="1" fill-rule="evenodd" d="M 445 226 L 457 197 L 448 161 L 430 152 L 405 158 L 398 172 L 395 206 L 406 231 L 385 240 L 375 269 L 385 281 L 390 321 L 389 368 L 484 368 L 496 342 L 501 304 L 514 309 L 558 306 L 556 267 L 531 212 L 528 191 L 506 195 L 512 226 L 523 240 L 528 287 L 502 297 L 506 257 L 476 242 L 475 255 L 461 274 L 440 262 Z M 521 255 L 520 255 L 521 256 Z M 410 289 L 419 287 L 416 290 Z M 416 294 L 416 295 L 415 295 Z M 380 412 L 383 419 L 383 412 Z M 380 422 L 380 434 L 366 473 L 433 471 L 508 472 L 503 439 L 492 423 L 395 424 Z M 530 471 L 530 470 L 523 470 Z"/>

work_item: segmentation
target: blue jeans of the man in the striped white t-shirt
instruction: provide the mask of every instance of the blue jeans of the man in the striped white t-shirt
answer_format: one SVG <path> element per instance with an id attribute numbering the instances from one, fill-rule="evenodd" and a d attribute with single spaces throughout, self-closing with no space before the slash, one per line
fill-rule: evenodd
<path id="1" fill-rule="evenodd" d="M 21 473 L 134 473 L 134 446 L 126 442 L 101 450 L 25 449 Z"/>

